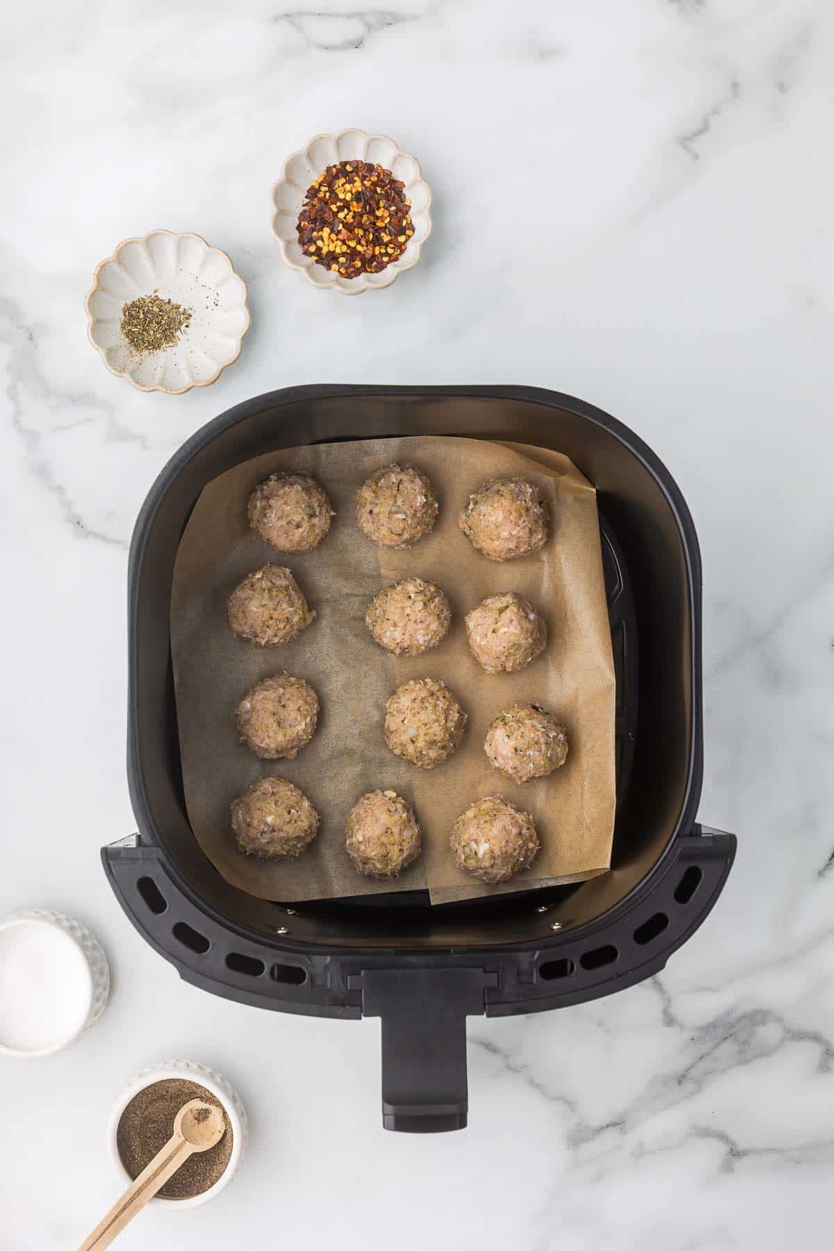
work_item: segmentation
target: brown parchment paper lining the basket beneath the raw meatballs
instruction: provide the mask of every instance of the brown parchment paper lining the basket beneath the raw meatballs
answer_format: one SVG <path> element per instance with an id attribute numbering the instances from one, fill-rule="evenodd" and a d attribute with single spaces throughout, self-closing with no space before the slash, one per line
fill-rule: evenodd
<path id="1" fill-rule="evenodd" d="M 404 552 L 376 548 L 358 529 L 354 495 L 373 469 L 399 460 L 423 468 L 438 490 L 430 535 Z M 253 488 L 276 469 L 305 469 L 336 510 L 310 553 L 274 552 L 246 519 Z M 484 480 L 523 474 L 550 502 L 551 538 L 534 557 L 486 560 L 458 528 L 458 513 Z M 259 648 L 226 624 L 226 598 L 266 562 L 290 568 L 316 619 L 290 643 Z M 393 657 L 364 622 L 371 597 L 415 575 L 449 595 L 451 629 L 418 657 Z M 466 644 L 464 614 L 486 595 L 515 590 L 548 623 L 548 647 L 520 673 L 486 674 Z M 183 534 L 171 594 L 171 653 L 183 781 L 194 834 L 219 872 L 261 898 L 295 901 L 428 887 L 433 903 L 576 882 L 609 867 L 614 826 L 614 667 L 596 499 L 570 460 L 543 448 L 478 439 L 404 438 L 331 443 L 268 453 L 204 488 Z M 321 702 L 319 729 L 294 761 L 259 761 L 239 742 L 233 716 L 260 678 L 286 669 Z M 385 747 L 385 701 L 409 678 L 436 677 L 469 714 L 458 752 L 423 771 Z M 490 721 L 515 701 L 535 701 L 566 726 L 566 764 L 516 786 L 489 766 Z M 234 844 L 229 804 L 255 781 L 294 782 L 321 816 L 316 841 L 298 859 L 265 862 Z M 414 804 L 423 856 L 396 879 L 360 877 L 344 851 L 344 822 L 366 791 L 394 789 Z M 488 887 L 456 868 L 449 832 L 464 808 L 501 793 L 533 813 L 541 851 L 514 882 Z"/>

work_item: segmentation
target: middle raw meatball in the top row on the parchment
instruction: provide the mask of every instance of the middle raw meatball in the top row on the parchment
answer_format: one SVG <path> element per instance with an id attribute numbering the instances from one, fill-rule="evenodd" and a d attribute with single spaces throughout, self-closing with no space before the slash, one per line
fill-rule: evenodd
<path id="1" fill-rule="evenodd" d="M 416 465 L 384 465 L 356 494 L 356 523 L 381 547 L 410 547 L 436 517 L 434 487 Z"/>

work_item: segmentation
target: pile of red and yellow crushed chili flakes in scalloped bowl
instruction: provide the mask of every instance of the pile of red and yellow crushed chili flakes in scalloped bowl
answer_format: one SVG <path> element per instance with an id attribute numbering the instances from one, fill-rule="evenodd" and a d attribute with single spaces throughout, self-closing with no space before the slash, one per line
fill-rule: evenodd
<path id="1" fill-rule="evenodd" d="M 363 160 L 328 165 L 308 189 L 298 233 L 301 251 L 343 278 L 379 274 L 414 234 L 411 201 L 390 169 Z"/>

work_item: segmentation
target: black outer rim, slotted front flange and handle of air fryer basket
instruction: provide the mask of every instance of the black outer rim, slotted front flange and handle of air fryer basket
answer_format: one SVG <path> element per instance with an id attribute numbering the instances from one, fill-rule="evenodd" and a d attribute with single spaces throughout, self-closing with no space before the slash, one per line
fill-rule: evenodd
<path id="1" fill-rule="evenodd" d="M 680 708 L 681 716 L 685 709 L 689 727 L 686 771 L 683 793 L 675 799 L 674 829 L 631 889 L 613 907 L 564 933 L 558 932 L 559 926 L 548 924 L 545 916 L 539 918 L 543 928 L 533 940 L 490 940 L 484 946 L 419 948 L 369 942 L 351 947 L 344 936 L 341 942 L 300 941 L 286 924 L 278 927 L 274 936 L 265 934 L 205 898 L 160 838 L 139 749 L 138 622 L 140 573 L 166 492 L 216 437 L 250 418 L 289 404 L 363 398 L 486 399 L 563 410 L 565 417 L 593 423 L 621 444 L 659 489 L 674 519 L 675 550 L 679 542 L 685 573 L 688 620 L 680 620 L 681 628 L 688 624 L 689 631 L 689 703 L 684 698 Z M 384 432 L 374 432 L 374 437 Z M 615 498 L 611 492 L 611 500 Z M 604 515 L 604 494 L 600 500 Z M 359 385 L 295 387 L 238 404 L 198 430 L 151 487 L 130 549 L 129 614 L 128 773 L 140 834 L 103 849 L 105 872 L 123 909 L 184 980 L 224 998 L 339 1020 L 381 1017 L 386 1128 L 436 1132 L 465 1126 L 468 1015 L 545 1011 L 631 986 L 664 967 L 723 889 L 735 839 L 694 823 L 703 769 L 700 554 L 695 529 L 680 490 L 658 457 L 620 422 L 590 404 L 525 387 Z M 168 654 L 170 661 L 170 651 Z"/>

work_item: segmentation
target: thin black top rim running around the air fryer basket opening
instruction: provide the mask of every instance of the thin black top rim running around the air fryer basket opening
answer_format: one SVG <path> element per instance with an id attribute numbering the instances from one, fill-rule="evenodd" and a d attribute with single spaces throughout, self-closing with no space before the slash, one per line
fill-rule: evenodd
<path id="1" fill-rule="evenodd" d="M 136 657 L 135 648 L 138 647 L 138 639 L 133 629 L 133 623 L 136 619 L 136 598 L 139 594 L 138 585 L 138 570 L 141 565 L 145 542 L 148 533 L 153 524 L 156 510 L 165 497 L 171 482 L 176 478 L 183 469 L 189 464 L 189 462 L 208 448 L 211 442 L 221 433 L 228 432 L 235 425 L 243 424 L 249 420 L 250 417 L 260 414 L 264 410 L 275 408 L 280 409 L 290 404 L 298 404 L 304 402 L 315 402 L 320 399 L 361 399 L 363 397 L 374 398 L 414 398 L 414 399 L 508 399 L 514 402 L 524 402 L 530 404 L 546 405 L 554 409 L 565 409 L 569 413 L 574 413 L 595 425 L 601 427 L 608 433 L 613 434 L 623 447 L 633 454 L 645 469 L 649 470 L 658 487 L 661 489 L 664 498 L 675 518 L 676 525 L 684 539 L 683 550 L 686 562 L 686 578 L 689 585 L 689 629 L 691 638 L 691 663 L 690 663 L 690 683 L 691 683 L 691 734 L 690 734 L 690 747 L 689 747 L 689 762 L 686 769 L 686 788 L 680 804 L 679 817 L 675 824 L 674 833 L 669 838 L 666 847 L 661 854 L 655 861 L 651 869 L 646 876 L 635 883 L 633 889 L 624 896 L 618 903 L 615 903 L 608 911 L 600 913 L 599 917 L 589 921 L 583 929 L 591 933 L 594 929 L 600 929 L 608 927 L 611 922 L 616 921 L 618 917 L 629 913 L 634 906 L 635 899 L 643 897 L 653 889 L 654 882 L 663 876 L 666 868 L 666 861 L 674 847 L 675 838 L 685 831 L 694 827 L 695 816 L 698 811 L 698 803 L 700 799 L 700 789 L 703 781 L 703 704 L 701 704 L 701 644 L 700 644 L 700 589 L 701 589 L 701 563 L 700 563 L 700 548 L 698 544 L 698 535 L 695 533 L 694 522 L 686 502 L 680 492 L 680 488 L 675 483 L 674 478 L 663 464 L 663 462 L 655 455 L 655 453 L 626 425 L 619 422 L 616 418 L 595 408 L 593 404 L 588 404 L 585 400 L 576 399 L 571 395 L 563 394 L 560 392 L 550 392 L 543 388 L 533 387 L 385 387 L 385 385 L 364 385 L 364 384 L 308 384 L 301 387 L 288 387 L 274 392 L 265 392 L 261 395 L 256 395 L 251 399 L 244 400 L 240 404 L 234 405 L 225 413 L 208 422 L 199 430 L 196 430 L 186 442 L 174 453 L 170 460 L 165 464 L 161 472 L 158 474 L 148 497 L 139 512 L 136 524 L 133 533 L 133 539 L 130 544 L 130 557 L 128 565 L 128 579 L 129 579 L 129 620 L 131 623 L 130 637 L 129 637 L 129 704 L 128 704 L 128 782 L 130 789 L 131 806 L 136 822 L 140 828 L 143 838 L 148 838 L 154 843 L 158 842 L 155 832 L 155 821 L 151 812 L 151 806 L 148 799 L 148 793 L 145 788 L 145 781 L 141 772 L 140 757 L 138 751 L 139 742 L 139 729 L 138 729 L 138 701 L 135 698 L 135 681 L 136 681 Z M 581 467 L 580 467 L 581 468 Z M 169 876 L 174 877 L 180 891 L 190 897 L 203 911 L 208 911 L 213 919 L 219 924 L 234 927 L 241 936 L 250 934 L 249 927 L 241 926 L 235 918 L 229 917 L 226 913 L 215 908 L 214 904 L 203 898 L 198 892 L 194 891 L 193 884 L 189 882 L 188 877 L 183 874 L 179 866 L 170 862 L 166 864 L 166 872 Z M 259 934 L 263 938 L 263 934 Z M 549 943 L 559 943 L 559 934 L 553 933 L 551 937 L 546 940 Z M 303 941 L 295 941 L 289 938 L 281 938 L 276 942 L 276 947 L 285 950 L 304 951 L 309 945 Z M 334 945 L 338 947 L 338 943 Z M 519 941 L 506 941 L 495 945 L 490 945 L 494 950 L 536 950 L 541 946 L 541 940 L 519 940 Z M 369 951 L 373 948 L 369 948 Z M 450 948 L 451 950 L 451 948 Z M 385 943 L 380 951 L 391 951 L 390 943 Z"/>

